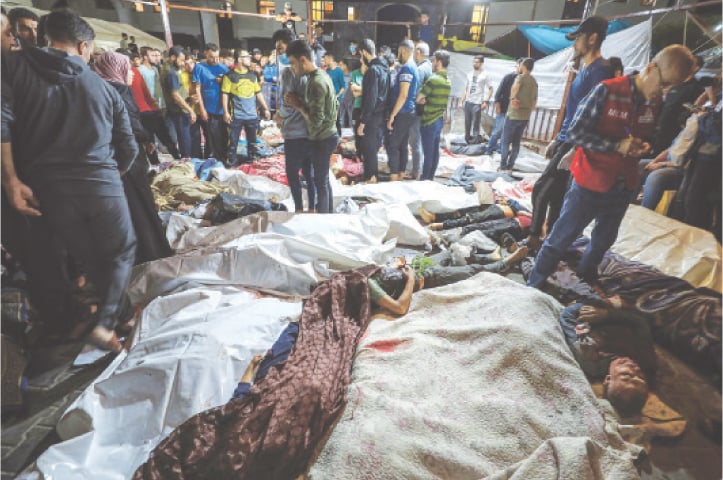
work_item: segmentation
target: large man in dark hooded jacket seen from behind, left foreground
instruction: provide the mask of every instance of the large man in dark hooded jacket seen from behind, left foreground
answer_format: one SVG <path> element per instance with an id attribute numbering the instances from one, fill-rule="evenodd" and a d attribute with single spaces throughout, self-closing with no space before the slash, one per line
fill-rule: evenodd
<path id="1" fill-rule="evenodd" d="M 2 59 L 3 188 L 17 211 L 42 215 L 88 273 L 100 302 L 86 340 L 117 351 L 113 328 L 135 258 L 120 177 L 138 144 L 120 95 L 87 66 L 90 25 L 63 9 L 44 27 L 49 48 Z"/>

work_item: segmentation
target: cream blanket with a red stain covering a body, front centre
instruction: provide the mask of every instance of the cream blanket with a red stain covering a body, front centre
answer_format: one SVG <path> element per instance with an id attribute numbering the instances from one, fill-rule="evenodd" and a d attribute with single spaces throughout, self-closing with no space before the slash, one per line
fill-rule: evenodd
<path id="1" fill-rule="evenodd" d="M 560 309 L 482 273 L 373 321 L 310 480 L 638 478 L 639 449 L 607 425 Z"/>

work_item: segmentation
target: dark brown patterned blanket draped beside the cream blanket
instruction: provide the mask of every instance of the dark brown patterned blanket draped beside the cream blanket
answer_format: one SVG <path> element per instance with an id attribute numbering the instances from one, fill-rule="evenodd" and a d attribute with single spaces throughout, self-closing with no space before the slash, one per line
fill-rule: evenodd
<path id="1" fill-rule="evenodd" d="M 290 479 L 346 404 L 351 363 L 370 320 L 368 266 L 335 274 L 304 305 L 285 365 L 251 395 L 199 413 L 163 440 L 133 479 Z"/>

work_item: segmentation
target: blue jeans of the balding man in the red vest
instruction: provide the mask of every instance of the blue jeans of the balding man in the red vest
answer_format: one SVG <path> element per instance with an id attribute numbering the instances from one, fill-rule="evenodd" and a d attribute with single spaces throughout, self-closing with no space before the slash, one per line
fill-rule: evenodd
<path id="1" fill-rule="evenodd" d="M 580 259 L 577 274 L 580 278 L 595 275 L 603 255 L 615 243 L 631 197 L 632 192 L 628 190 L 594 192 L 581 187 L 573 180 L 565 194 L 560 218 L 555 222 L 552 232 L 537 254 L 527 285 L 542 287 L 547 277 L 557 269 L 557 264 L 568 247 L 593 220 L 595 228 L 590 236 L 590 243 Z"/>

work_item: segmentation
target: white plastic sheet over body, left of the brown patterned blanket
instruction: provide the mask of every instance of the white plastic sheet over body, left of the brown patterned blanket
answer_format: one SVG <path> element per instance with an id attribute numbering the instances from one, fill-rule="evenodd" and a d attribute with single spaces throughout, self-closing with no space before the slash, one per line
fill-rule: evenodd
<path id="1" fill-rule="evenodd" d="M 136 343 L 58 424 L 66 439 L 38 458 L 46 479 L 130 478 L 158 442 L 198 412 L 226 403 L 254 355 L 265 353 L 301 302 L 233 287 L 158 298 Z"/>

